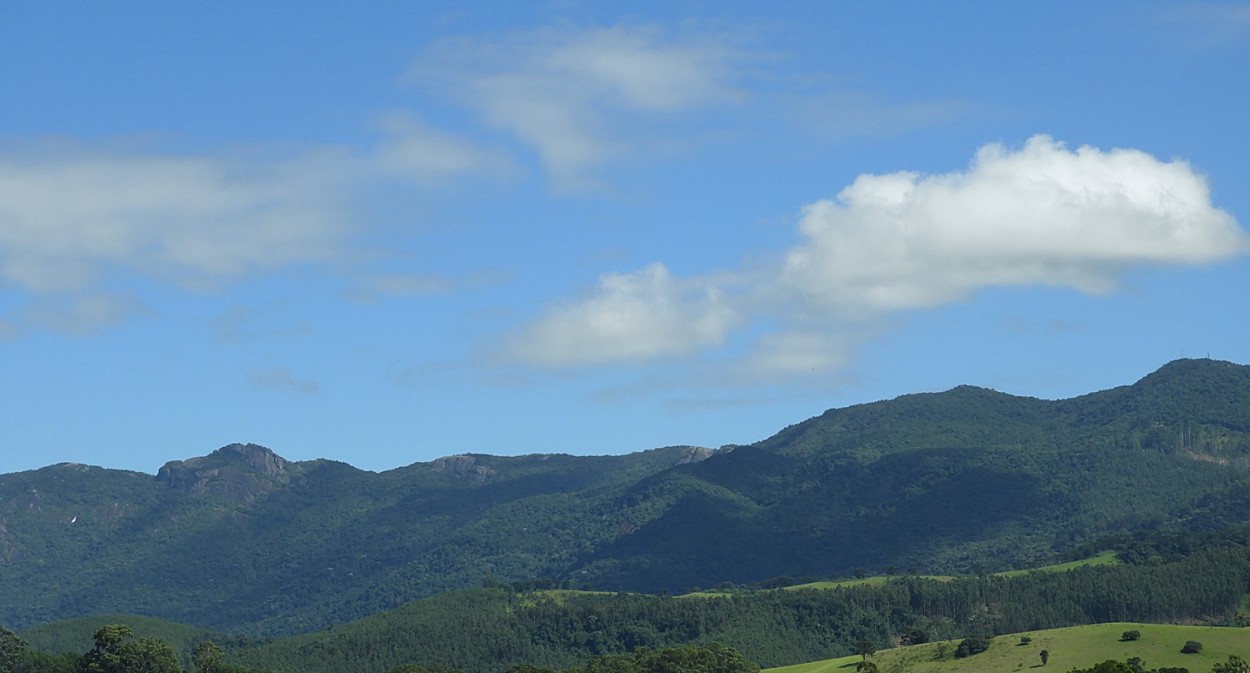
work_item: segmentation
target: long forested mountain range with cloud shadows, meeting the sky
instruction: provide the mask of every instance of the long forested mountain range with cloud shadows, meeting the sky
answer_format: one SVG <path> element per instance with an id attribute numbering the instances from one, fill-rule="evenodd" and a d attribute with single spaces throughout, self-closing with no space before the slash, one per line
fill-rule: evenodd
<path id="1" fill-rule="evenodd" d="M 1069 400 L 960 387 L 752 445 L 459 455 L 384 473 L 231 445 L 156 477 L 0 475 L 0 623 L 126 612 L 308 630 L 538 577 L 660 590 L 1001 569 L 1141 528 L 1250 519 L 1250 367 L 1180 360 Z"/>

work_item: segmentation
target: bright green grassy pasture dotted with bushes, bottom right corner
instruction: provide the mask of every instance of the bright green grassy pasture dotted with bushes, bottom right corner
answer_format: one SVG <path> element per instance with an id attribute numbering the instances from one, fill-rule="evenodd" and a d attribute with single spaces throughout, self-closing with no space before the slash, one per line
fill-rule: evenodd
<path id="1" fill-rule="evenodd" d="M 1121 642 L 1120 634 L 1126 630 L 1141 632 L 1141 639 Z M 1020 644 L 1025 635 L 1031 642 Z M 1180 648 L 1186 640 L 1202 643 L 1202 652 L 1181 654 Z M 999 635 L 988 650 L 961 659 L 954 654 L 958 644 L 959 640 L 948 640 L 882 649 L 872 657 L 872 662 L 881 673 L 1062 673 L 1089 668 L 1106 659 L 1122 662 L 1140 657 L 1146 668 L 1184 667 L 1191 673 L 1208 673 L 1229 654 L 1250 657 L 1250 628 L 1132 623 L 1068 627 Z M 1039 655 L 1042 649 L 1050 653 L 1045 667 Z M 855 673 L 859 662 L 859 657 L 851 655 L 770 668 L 766 673 Z"/>

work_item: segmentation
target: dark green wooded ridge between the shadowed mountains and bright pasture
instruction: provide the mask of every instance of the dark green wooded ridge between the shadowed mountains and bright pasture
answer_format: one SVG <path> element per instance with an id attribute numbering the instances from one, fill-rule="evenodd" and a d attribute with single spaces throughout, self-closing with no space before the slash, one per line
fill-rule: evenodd
<path id="1" fill-rule="evenodd" d="M 522 589 L 524 587 L 518 587 Z M 315 634 L 230 648 L 281 673 L 401 664 L 504 673 L 589 658 L 725 643 L 764 667 L 879 648 L 1106 622 L 1234 624 L 1250 594 L 1250 545 L 1212 544 L 1172 562 L 1062 573 L 904 577 L 880 585 L 659 597 L 508 585 L 451 592 Z"/>

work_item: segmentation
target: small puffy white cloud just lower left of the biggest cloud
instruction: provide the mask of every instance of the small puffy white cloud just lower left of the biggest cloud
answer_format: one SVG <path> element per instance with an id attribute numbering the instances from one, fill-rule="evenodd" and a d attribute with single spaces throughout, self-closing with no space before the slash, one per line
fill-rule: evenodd
<path id="1" fill-rule="evenodd" d="M 720 344 L 736 318 L 712 283 L 652 264 L 601 276 L 589 299 L 555 306 L 516 335 L 510 355 L 546 367 L 685 355 Z"/>

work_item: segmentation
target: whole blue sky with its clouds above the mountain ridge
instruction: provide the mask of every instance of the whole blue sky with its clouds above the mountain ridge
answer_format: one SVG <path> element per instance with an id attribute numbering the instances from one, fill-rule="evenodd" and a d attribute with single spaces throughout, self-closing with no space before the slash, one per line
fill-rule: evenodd
<path id="1" fill-rule="evenodd" d="M 5 3 L 0 472 L 1250 363 L 1250 4 Z"/>

